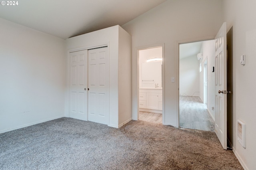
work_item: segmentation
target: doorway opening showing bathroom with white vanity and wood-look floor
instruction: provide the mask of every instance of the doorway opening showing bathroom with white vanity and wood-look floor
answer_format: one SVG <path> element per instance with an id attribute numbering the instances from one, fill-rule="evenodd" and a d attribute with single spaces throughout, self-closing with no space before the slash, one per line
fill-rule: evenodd
<path id="1" fill-rule="evenodd" d="M 163 123 L 163 47 L 138 50 L 138 120 Z"/>

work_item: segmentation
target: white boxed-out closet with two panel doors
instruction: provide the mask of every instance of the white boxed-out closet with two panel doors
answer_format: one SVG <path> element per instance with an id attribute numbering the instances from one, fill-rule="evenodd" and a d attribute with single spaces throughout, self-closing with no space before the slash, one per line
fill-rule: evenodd
<path id="1" fill-rule="evenodd" d="M 113 26 L 66 40 L 66 116 L 122 127 L 132 120 L 131 36 Z"/>

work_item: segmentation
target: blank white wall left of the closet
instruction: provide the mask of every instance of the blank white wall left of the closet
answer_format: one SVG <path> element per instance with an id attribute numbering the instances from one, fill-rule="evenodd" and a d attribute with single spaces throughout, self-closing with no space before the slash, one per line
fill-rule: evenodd
<path id="1" fill-rule="evenodd" d="M 64 117 L 64 40 L 0 25 L 0 133 Z"/>

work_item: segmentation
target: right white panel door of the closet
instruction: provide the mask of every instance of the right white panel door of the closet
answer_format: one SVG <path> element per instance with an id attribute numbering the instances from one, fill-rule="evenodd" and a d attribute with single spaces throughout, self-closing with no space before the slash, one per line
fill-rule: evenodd
<path id="1" fill-rule="evenodd" d="M 108 47 L 88 50 L 88 121 L 109 124 Z"/>

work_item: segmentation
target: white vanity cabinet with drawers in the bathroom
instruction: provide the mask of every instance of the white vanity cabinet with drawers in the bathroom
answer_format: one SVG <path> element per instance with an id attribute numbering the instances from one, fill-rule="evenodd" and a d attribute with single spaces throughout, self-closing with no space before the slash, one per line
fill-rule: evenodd
<path id="1" fill-rule="evenodd" d="M 162 89 L 140 89 L 139 110 L 144 112 L 162 113 Z"/>

